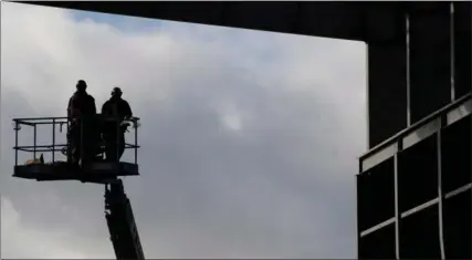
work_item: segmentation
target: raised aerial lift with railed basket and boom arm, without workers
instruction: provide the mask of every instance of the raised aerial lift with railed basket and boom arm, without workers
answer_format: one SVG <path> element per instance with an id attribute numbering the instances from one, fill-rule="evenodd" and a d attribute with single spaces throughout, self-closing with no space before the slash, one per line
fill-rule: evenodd
<path id="1" fill-rule="evenodd" d="M 106 118 L 97 115 L 95 122 L 106 121 Z M 117 259 L 144 259 L 144 252 L 139 240 L 138 230 L 133 215 L 132 205 L 127 198 L 120 176 L 138 176 L 137 165 L 137 117 L 126 119 L 129 125 L 133 125 L 135 134 L 134 144 L 124 144 L 124 148 L 134 149 L 135 162 L 124 163 L 118 160 L 82 160 L 75 164 L 69 160 L 59 160 L 57 153 L 62 153 L 69 158 L 70 144 L 56 143 L 56 131 L 61 131 L 63 126 L 71 129 L 70 117 L 40 117 L 40 118 L 15 118 L 15 145 L 14 154 L 14 174 L 13 177 L 24 179 L 35 179 L 38 181 L 54 181 L 54 180 L 80 180 L 82 183 L 95 183 L 105 185 L 105 217 L 108 225 L 111 240 Z M 84 122 L 81 119 L 80 122 Z M 38 127 L 51 125 L 52 143 L 49 145 L 38 145 Z M 22 127 L 33 128 L 33 144 L 19 145 L 19 135 Z M 83 126 L 77 126 L 83 129 Z M 69 134 L 69 133 L 67 133 Z M 84 132 L 81 133 L 82 135 Z M 83 138 L 82 138 L 83 139 Z M 82 145 L 82 144 L 81 144 Z M 102 145 L 103 146 L 103 145 Z M 105 150 L 101 147 L 101 150 Z M 19 154 L 22 152 L 29 155 L 32 154 L 33 159 L 29 159 L 25 164 L 19 164 Z M 39 154 L 41 155 L 39 156 Z M 51 155 L 50 160 L 44 159 L 44 154 Z M 40 158 L 40 159 L 38 159 Z"/>

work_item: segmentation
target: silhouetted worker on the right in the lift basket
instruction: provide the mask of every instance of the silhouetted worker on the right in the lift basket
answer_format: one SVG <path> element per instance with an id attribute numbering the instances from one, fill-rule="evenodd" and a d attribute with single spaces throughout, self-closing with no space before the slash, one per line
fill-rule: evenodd
<path id="1" fill-rule="evenodd" d="M 118 162 L 125 152 L 125 132 L 129 124 L 123 123 L 126 117 L 133 116 L 132 107 L 122 98 L 122 90 L 114 87 L 112 97 L 102 106 L 102 115 L 107 118 L 103 128 L 105 155 L 106 159 L 112 162 Z"/>

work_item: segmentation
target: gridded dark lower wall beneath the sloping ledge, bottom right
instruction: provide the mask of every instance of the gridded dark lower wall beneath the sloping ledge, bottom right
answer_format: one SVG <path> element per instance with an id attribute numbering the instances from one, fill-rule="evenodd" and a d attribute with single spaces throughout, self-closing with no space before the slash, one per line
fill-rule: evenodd
<path id="1" fill-rule="evenodd" d="M 429 136 L 418 131 L 415 144 L 392 141 L 405 147 L 374 166 L 361 158 L 359 259 L 471 259 L 471 125 L 469 114 Z"/>

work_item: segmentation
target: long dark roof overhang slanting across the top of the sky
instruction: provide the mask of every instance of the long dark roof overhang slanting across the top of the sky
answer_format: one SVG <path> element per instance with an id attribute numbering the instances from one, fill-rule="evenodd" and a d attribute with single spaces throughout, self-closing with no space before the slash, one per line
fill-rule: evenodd
<path id="1" fill-rule="evenodd" d="M 398 2 L 15 2 L 366 42 L 398 38 L 405 17 Z"/>

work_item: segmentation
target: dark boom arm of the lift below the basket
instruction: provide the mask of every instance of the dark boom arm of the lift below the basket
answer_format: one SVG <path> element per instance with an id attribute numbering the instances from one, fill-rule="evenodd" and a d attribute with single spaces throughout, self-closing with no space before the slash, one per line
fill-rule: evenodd
<path id="1" fill-rule="evenodd" d="M 105 185 L 105 218 L 116 259 L 144 260 L 132 204 L 120 179 L 111 180 Z"/>

